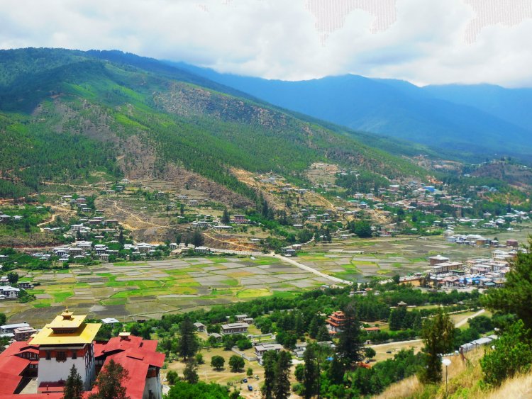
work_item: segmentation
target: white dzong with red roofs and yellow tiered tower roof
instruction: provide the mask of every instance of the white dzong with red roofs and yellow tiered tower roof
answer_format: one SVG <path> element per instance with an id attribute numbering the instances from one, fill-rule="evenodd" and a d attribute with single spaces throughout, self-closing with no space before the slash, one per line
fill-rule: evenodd
<path id="1" fill-rule="evenodd" d="M 121 332 L 108 342 L 96 342 L 101 325 L 85 322 L 86 317 L 65 310 L 28 339 L 11 343 L 0 354 L 0 397 L 62 398 L 72 366 L 86 395 L 96 393 L 92 384 L 112 359 L 128 371 L 123 381 L 128 397 L 162 398 L 165 355 L 157 352 L 157 341 Z"/>

